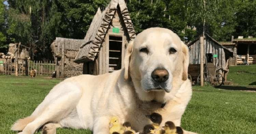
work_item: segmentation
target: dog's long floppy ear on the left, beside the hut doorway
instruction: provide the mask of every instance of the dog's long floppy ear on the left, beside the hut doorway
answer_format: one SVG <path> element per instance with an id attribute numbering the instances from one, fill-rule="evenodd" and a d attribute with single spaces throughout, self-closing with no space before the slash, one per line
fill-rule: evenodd
<path id="1" fill-rule="evenodd" d="M 125 44 L 125 46 L 126 46 L 126 51 L 125 51 L 125 59 L 124 59 L 124 63 L 125 63 L 124 78 L 125 80 L 127 80 L 129 76 L 129 64 L 130 64 L 130 57 L 132 53 L 133 41 L 131 41 L 129 44 Z"/>

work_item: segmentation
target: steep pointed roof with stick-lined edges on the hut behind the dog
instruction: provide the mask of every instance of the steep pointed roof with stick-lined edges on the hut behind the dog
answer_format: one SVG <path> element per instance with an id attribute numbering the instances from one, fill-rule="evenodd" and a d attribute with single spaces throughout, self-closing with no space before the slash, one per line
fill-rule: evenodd
<path id="1" fill-rule="evenodd" d="M 85 43 L 80 46 L 79 52 L 75 58 L 76 63 L 83 63 L 88 61 L 94 61 L 94 58 L 99 53 L 99 48 L 102 47 L 107 29 L 110 28 L 110 24 L 115 15 L 117 7 L 120 7 L 122 18 L 124 20 L 125 27 L 128 31 L 128 40 L 135 38 L 135 30 L 131 22 L 128 9 L 124 0 L 111 0 L 105 10 L 101 11 L 98 8 L 96 15 L 94 16 L 90 28 L 84 38 Z"/>

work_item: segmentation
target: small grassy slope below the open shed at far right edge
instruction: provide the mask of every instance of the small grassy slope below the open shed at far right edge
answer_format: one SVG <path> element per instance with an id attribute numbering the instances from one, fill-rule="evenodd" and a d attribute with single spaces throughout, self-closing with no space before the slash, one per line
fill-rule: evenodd
<path id="1" fill-rule="evenodd" d="M 227 80 L 239 86 L 256 87 L 256 64 L 231 66 Z"/>

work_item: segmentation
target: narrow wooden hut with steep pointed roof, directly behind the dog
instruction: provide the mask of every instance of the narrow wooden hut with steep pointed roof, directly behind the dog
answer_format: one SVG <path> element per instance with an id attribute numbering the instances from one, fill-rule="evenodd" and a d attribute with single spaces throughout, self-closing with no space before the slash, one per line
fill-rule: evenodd
<path id="1" fill-rule="evenodd" d="M 136 34 L 124 0 L 111 0 L 98 9 L 75 57 L 83 63 L 83 74 L 99 75 L 124 66 L 125 43 Z"/>

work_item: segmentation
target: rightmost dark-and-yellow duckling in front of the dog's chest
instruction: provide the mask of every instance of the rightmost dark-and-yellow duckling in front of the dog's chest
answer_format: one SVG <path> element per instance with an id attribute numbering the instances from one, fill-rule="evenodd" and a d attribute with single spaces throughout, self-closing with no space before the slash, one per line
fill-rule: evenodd
<path id="1" fill-rule="evenodd" d="M 175 126 L 172 121 L 167 121 L 162 128 L 164 128 L 164 134 L 183 134 L 182 128 Z"/>

